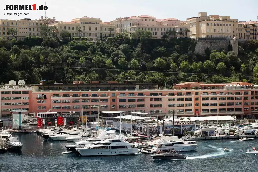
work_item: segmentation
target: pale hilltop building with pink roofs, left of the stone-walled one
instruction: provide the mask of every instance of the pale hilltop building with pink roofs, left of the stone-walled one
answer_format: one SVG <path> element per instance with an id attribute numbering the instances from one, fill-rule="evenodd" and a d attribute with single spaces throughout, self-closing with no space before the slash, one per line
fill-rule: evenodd
<path id="1" fill-rule="evenodd" d="M 132 32 L 136 30 L 149 30 L 152 32 L 153 38 L 161 38 L 163 35 L 166 35 L 166 31 L 183 31 L 184 28 L 189 28 L 185 23 L 181 22 L 176 18 L 167 18 L 167 19 L 156 19 L 149 15 L 140 15 L 140 16 L 131 16 L 116 18 L 110 22 L 115 25 L 116 33 L 121 33 L 127 31 L 130 36 Z M 185 37 L 182 35 L 182 37 Z M 187 34 L 189 37 L 189 33 Z M 172 36 L 173 37 L 173 36 Z M 177 35 L 180 37 L 180 35 Z"/>

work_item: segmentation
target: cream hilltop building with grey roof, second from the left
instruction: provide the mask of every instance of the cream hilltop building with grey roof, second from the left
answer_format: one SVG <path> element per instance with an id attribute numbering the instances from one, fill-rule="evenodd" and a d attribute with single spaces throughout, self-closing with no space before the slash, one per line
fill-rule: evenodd
<path id="1" fill-rule="evenodd" d="M 100 18 L 93 17 L 81 17 L 72 19 L 71 22 L 58 21 L 57 23 L 52 24 L 56 26 L 59 31 L 58 37 L 61 38 L 61 31 L 67 30 L 71 32 L 72 36 L 79 37 L 80 33 L 78 28 L 81 28 L 81 37 L 87 37 L 89 40 L 96 40 L 104 37 L 115 37 L 115 25 L 110 24 L 109 22 L 104 22 Z M 112 28 L 111 35 L 109 28 Z"/>

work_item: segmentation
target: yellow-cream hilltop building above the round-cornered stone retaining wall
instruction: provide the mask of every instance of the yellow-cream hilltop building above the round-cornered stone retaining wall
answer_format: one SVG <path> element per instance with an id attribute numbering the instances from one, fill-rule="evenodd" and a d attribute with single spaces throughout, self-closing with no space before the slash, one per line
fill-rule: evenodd
<path id="1" fill-rule="evenodd" d="M 186 19 L 191 30 L 190 37 L 238 37 L 238 20 L 230 16 L 210 15 L 199 12 L 197 17 Z"/>

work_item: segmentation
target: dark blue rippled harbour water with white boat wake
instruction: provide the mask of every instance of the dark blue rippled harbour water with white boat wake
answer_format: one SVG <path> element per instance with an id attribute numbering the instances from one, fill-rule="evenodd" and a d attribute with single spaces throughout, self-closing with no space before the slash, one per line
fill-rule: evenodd
<path id="1" fill-rule="evenodd" d="M 185 160 L 153 160 L 150 155 L 78 157 L 62 154 L 65 148 L 59 142 L 44 142 L 36 134 L 17 135 L 23 143 L 21 153 L 0 154 L 0 172 L 58 172 L 58 171 L 176 171 L 176 172 L 257 172 L 257 160 L 246 154 L 248 145 L 258 144 L 258 139 L 246 142 L 233 140 L 198 141 L 195 151 L 183 152 Z M 222 149 L 228 147 L 229 153 Z M 257 147 L 258 149 L 258 147 Z M 188 159 L 190 158 L 190 159 Z"/>

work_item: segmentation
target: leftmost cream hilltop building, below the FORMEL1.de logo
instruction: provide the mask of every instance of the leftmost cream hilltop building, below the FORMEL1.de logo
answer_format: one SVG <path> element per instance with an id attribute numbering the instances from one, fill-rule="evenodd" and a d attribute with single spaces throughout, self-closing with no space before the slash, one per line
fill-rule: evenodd
<path id="1" fill-rule="evenodd" d="M 17 40 L 24 40 L 26 36 L 42 36 L 39 31 L 43 24 L 53 24 L 55 19 L 46 18 L 43 16 L 39 20 L 31 20 L 29 18 L 21 20 L 2 20 L 0 19 L 0 36 L 3 39 L 11 40 L 14 38 L 12 35 L 7 34 L 9 28 L 17 30 Z M 50 33 L 49 33 L 50 36 Z"/>

